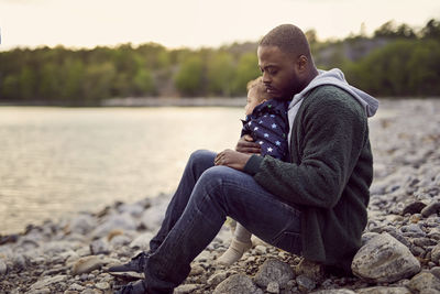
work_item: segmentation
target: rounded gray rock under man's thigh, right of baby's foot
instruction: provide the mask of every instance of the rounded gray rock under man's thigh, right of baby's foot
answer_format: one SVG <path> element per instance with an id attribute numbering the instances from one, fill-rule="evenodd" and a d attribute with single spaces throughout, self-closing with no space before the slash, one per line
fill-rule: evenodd
<path id="1" fill-rule="evenodd" d="M 255 274 L 254 281 L 261 287 L 267 287 L 271 282 L 277 282 L 283 288 L 294 277 L 290 265 L 277 259 L 268 259 Z"/>

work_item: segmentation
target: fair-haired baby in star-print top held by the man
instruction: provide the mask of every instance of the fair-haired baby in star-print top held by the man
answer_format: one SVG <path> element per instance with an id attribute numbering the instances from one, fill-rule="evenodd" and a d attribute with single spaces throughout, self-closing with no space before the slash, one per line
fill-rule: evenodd
<path id="1" fill-rule="evenodd" d="M 262 77 L 248 83 L 248 104 L 244 108 L 241 137 L 250 134 L 261 145 L 261 155 L 271 155 L 289 161 L 287 132 L 289 130 L 287 108 L 290 100 L 272 99 Z M 234 237 L 228 250 L 217 260 L 219 264 L 231 265 L 252 247 L 251 232 L 237 224 Z"/>

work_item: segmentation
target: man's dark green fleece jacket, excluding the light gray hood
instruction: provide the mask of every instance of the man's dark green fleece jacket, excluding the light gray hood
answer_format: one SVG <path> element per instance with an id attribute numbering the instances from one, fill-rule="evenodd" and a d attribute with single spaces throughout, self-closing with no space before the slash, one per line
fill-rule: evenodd
<path id="1" fill-rule="evenodd" d="M 244 171 L 301 210 L 306 259 L 351 272 L 373 179 L 365 111 L 346 91 L 319 86 L 304 98 L 290 132 L 292 163 L 252 155 Z"/>

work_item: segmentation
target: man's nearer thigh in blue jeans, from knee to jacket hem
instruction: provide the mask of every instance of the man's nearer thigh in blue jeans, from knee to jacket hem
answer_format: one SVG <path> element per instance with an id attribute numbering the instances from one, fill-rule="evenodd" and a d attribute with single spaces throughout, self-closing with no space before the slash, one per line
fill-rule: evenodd
<path id="1" fill-rule="evenodd" d="M 221 178 L 221 197 L 228 216 L 264 241 L 300 253 L 299 210 L 279 200 L 243 172 L 216 166 L 206 173 Z"/>

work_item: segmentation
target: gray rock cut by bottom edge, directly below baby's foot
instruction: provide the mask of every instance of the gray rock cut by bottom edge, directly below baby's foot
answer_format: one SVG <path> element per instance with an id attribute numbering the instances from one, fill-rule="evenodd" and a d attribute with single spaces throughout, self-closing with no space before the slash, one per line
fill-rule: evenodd
<path id="1" fill-rule="evenodd" d="M 234 274 L 221 282 L 212 294 L 263 294 L 263 290 L 258 288 L 249 277 L 244 274 Z"/>

